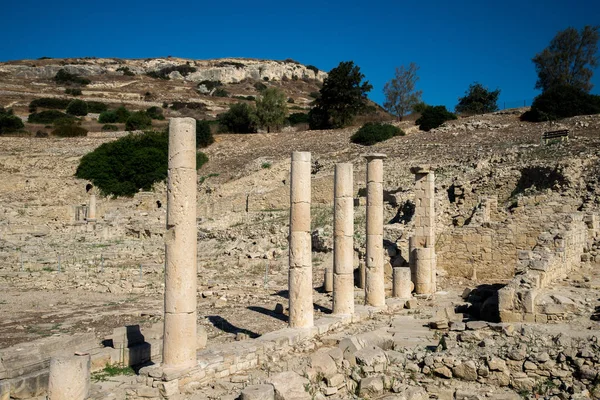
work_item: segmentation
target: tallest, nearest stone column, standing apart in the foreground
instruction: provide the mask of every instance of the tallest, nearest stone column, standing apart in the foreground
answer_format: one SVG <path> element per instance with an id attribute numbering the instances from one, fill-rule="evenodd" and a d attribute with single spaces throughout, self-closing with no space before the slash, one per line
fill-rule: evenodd
<path id="1" fill-rule="evenodd" d="M 196 365 L 196 121 L 169 122 L 163 365 Z"/>

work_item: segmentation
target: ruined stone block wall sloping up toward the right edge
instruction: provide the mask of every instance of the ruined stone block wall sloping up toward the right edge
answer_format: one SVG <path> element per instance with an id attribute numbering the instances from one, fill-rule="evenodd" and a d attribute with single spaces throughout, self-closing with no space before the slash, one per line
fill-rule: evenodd
<path id="1" fill-rule="evenodd" d="M 566 277 L 581 263 L 588 240 L 597 235 L 597 229 L 584 222 L 584 217 L 582 213 L 557 215 L 558 221 L 539 235 L 534 250 L 519 251 L 516 276 L 498 291 L 502 322 L 544 323 L 561 318 L 566 311 L 563 304 L 538 305 L 536 297 L 540 289 Z"/>

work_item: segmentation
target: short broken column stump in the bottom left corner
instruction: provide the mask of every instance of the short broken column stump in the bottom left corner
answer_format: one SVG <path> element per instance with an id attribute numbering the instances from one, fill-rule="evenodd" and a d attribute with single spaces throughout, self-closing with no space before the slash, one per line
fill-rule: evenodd
<path id="1" fill-rule="evenodd" d="M 90 355 L 75 354 L 50 359 L 49 400 L 84 400 L 90 391 Z"/>

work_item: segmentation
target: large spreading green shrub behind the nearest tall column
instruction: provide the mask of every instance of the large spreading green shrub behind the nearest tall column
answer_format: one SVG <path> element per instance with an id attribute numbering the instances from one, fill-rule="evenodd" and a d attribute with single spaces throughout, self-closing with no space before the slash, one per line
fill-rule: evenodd
<path id="1" fill-rule="evenodd" d="M 167 177 L 168 147 L 167 132 L 127 135 L 83 156 L 75 176 L 91 181 L 105 194 L 133 196 Z M 196 167 L 207 160 L 198 153 Z"/>

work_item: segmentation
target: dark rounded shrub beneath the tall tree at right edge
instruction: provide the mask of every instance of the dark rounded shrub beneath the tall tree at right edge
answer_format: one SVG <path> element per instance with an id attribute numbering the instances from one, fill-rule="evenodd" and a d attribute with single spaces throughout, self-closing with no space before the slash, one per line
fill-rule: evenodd
<path id="1" fill-rule="evenodd" d="M 524 113 L 521 120 L 553 121 L 589 114 L 600 114 L 600 96 L 573 86 L 559 85 L 537 96 L 531 104 L 531 110 Z"/>

